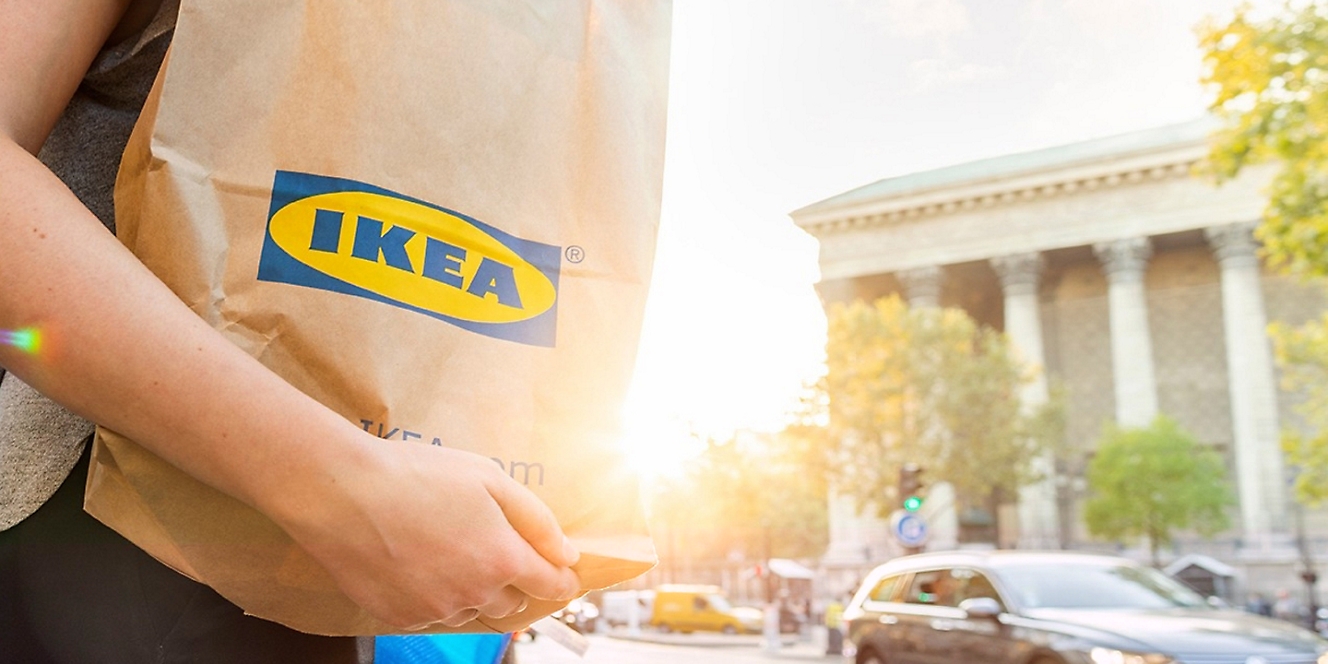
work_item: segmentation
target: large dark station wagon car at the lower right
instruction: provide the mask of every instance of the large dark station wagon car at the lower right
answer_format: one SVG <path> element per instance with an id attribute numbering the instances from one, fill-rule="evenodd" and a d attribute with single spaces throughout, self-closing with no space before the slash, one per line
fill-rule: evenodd
<path id="1" fill-rule="evenodd" d="M 1308 629 L 1109 555 L 903 556 L 872 570 L 843 619 L 857 664 L 1328 664 Z"/>

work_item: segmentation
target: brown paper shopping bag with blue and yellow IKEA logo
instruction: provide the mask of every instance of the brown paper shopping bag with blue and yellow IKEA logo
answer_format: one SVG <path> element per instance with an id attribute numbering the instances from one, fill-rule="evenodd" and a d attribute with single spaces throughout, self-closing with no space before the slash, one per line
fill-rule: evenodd
<path id="1" fill-rule="evenodd" d="M 186 0 L 121 167 L 120 236 L 348 420 L 525 482 L 583 551 L 587 590 L 636 576 L 655 551 L 616 436 L 655 251 L 669 11 Z M 250 614 L 390 631 L 274 523 L 114 432 L 88 485 L 92 514 Z"/>

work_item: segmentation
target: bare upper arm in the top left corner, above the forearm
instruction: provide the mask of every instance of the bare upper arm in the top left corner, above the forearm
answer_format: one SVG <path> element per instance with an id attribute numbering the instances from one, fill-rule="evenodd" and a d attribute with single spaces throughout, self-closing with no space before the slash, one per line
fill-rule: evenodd
<path id="1" fill-rule="evenodd" d="M 35 153 L 101 48 L 161 0 L 0 0 L 0 139 Z M 146 19 L 143 19 L 146 16 Z M 141 28 L 139 28 L 141 29 Z"/>

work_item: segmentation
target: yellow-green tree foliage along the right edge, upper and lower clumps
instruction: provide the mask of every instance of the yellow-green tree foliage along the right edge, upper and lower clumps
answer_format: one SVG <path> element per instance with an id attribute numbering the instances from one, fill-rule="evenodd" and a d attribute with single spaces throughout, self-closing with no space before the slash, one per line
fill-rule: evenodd
<path id="1" fill-rule="evenodd" d="M 1287 3 L 1256 19 L 1248 7 L 1201 28 L 1203 82 L 1223 120 L 1208 170 L 1219 179 L 1272 161 L 1278 173 L 1256 235 L 1271 266 L 1304 279 L 1328 276 L 1328 3 Z M 1272 325 L 1288 386 L 1304 390 L 1297 412 L 1312 434 L 1287 432 L 1299 467 L 1296 498 L 1328 495 L 1328 315 L 1300 328 Z"/>

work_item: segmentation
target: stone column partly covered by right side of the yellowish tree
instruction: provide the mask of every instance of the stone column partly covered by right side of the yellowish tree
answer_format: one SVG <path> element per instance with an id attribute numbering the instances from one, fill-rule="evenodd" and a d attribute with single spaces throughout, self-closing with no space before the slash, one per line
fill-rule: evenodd
<path id="1" fill-rule="evenodd" d="M 1033 371 L 1020 400 L 1025 412 L 1046 404 L 1045 355 L 1042 353 L 1042 317 L 1037 283 L 1042 272 L 1042 255 L 1013 254 L 991 259 L 1005 293 L 1005 336 L 1015 347 L 1015 356 Z M 1060 544 L 1060 518 L 1056 509 L 1056 459 L 1050 450 L 1032 461 L 1033 470 L 1044 479 L 1019 490 L 1020 548 L 1056 548 Z"/>

